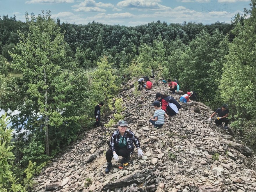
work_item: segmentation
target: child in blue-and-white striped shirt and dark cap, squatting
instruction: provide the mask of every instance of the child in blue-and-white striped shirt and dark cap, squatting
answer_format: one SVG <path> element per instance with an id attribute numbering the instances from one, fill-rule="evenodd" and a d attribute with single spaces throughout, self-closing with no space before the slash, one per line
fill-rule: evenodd
<path id="1" fill-rule="evenodd" d="M 154 125 L 155 128 L 160 128 L 164 124 L 164 116 L 168 117 L 163 109 L 161 109 L 161 104 L 159 101 L 154 101 L 152 104 L 157 110 L 154 113 L 154 118 L 150 118 L 149 121 Z"/>

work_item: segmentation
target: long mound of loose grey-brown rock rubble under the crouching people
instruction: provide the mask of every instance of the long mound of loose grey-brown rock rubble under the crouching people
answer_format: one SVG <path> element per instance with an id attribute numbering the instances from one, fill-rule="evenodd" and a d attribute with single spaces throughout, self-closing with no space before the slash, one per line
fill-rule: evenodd
<path id="1" fill-rule="evenodd" d="M 162 128 L 150 125 L 155 94 L 170 93 L 163 82 L 152 82 L 152 90 L 135 96 L 130 81 L 118 96 L 124 100 L 128 129 L 139 137 L 142 158 L 135 149 L 127 167 L 120 170 L 120 162 L 112 160 L 113 168 L 105 174 L 107 141 L 115 128 L 97 127 L 42 170 L 34 191 L 256 191 L 253 151 L 208 122 L 213 113 L 208 106 L 182 104 Z M 178 101 L 181 97 L 172 96 Z"/>

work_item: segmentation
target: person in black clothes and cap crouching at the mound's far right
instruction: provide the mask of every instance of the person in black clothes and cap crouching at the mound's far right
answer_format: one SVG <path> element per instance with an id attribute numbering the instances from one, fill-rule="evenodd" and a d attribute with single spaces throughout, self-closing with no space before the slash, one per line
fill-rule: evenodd
<path id="1" fill-rule="evenodd" d="M 221 108 L 218 108 L 214 113 L 212 113 L 211 117 L 209 118 L 209 122 L 211 121 L 211 118 L 214 117 L 214 115 L 218 113 L 218 117 L 215 119 L 216 125 L 222 125 L 222 122 L 225 123 L 224 128 L 227 130 L 227 124 L 229 122 L 228 117 L 228 105 L 223 104 Z"/>

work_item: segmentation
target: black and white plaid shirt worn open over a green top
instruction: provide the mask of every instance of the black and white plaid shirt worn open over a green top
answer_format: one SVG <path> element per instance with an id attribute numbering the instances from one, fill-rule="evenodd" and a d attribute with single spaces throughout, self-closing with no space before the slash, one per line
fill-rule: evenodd
<path id="1" fill-rule="evenodd" d="M 127 129 L 125 131 L 124 137 L 127 142 L 127 149 L 130 153 L 132 153 L 134 151 L 133 143 L 135 144 L 136 148 L 139 148 L 141 146 L 138 138 L 134 135 L 134 133 L 132 131 Z M 110 150 L 112 152 L 115 151 L 115 146 L 118 145 L 119 140 L 120 140 L 120 132 L 119 132 L 119 130 L 116 130 L 112 134 L 112 137 L 110 140 Z"/>

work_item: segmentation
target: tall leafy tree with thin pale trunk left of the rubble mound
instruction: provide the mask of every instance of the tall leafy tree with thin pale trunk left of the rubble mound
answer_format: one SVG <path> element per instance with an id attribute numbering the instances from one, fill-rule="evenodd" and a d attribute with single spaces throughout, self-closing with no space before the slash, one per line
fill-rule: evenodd
<path id="1" fill-rule="evenodd" d="M 79 107 L 84 107 L 81 103 L 85 98 L 87 82 L 76 70 L 74 62 L 65 60 L 64 35 L 51 19 L 50 12 L 46 15 L 42 12 L 37 17 L 31 15 L 30 21 L 26 13 L 26 19 L 29 33 L 20 33 L 21 42 L 15 47 L 17 54 L 10 53 L 13 67 L 22 73 L 25 85 L 25 106 L 19 109 L 26 110 L 26 118 L 31 119 L 33 126 L 40 127 L 41 121 L 44 121 L 46 154 L 49 155 L 50 145 L 56 145 L 56 134 L 63 134 L 58 140 L 67 139 L 64 127 L 84 118 Z M 42 115 L 42 118 L 38 120 L 32 111 Z M 55 131 L 61 127 L 64 130 Z M 73 134 L 72 131 L 69 134 Z"/>

